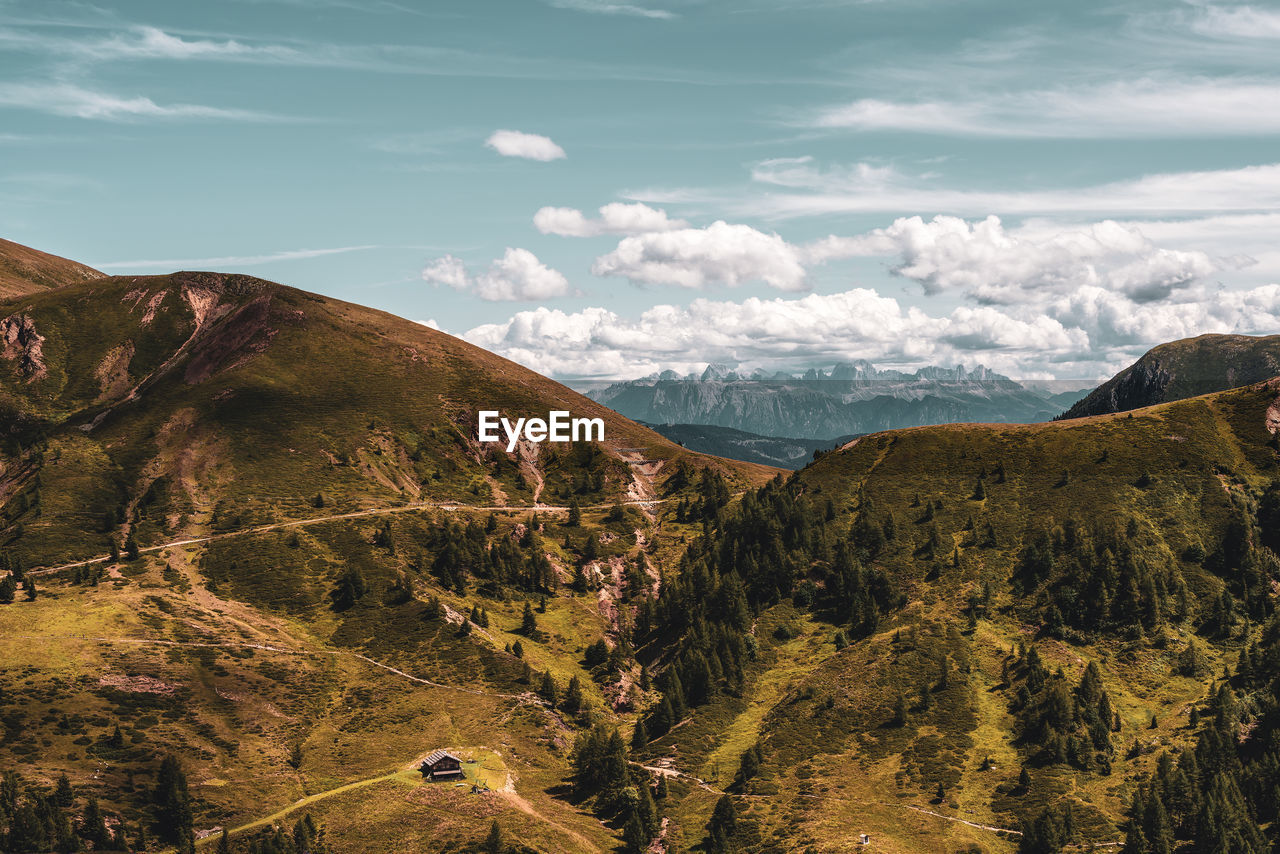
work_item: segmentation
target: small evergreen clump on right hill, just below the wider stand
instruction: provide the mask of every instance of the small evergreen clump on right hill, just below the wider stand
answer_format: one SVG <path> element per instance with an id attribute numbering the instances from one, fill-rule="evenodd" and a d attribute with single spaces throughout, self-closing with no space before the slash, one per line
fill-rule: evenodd
<path id="1" fill-rule="evenodd" d="M 1051 673 L 1032 647 L 1018 662 L 1018 670 L 1021 684 L 1011 711 L 1018 718 L 1021 743 L 1038 748 L 1032 759 L 1111 773 L 1111 732 L 1117 729 L 1119 718 L 1097 665 L 1089 662 L 1073 688 L 1061 670 Z"/>

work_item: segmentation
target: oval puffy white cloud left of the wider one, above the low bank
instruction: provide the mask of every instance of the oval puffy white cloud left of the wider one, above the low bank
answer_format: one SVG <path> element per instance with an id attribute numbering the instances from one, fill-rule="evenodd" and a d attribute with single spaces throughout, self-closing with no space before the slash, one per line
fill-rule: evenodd
<path id="1" fill-rule="evenodd" d="M 750 225 L 716 222 L 623 238 L 595 259 L 595 275 L 621 275 L 641 284 L 705 288 L 763 280 L 780 291 L 805 286 L 803 252 L 777 234 Z"/>

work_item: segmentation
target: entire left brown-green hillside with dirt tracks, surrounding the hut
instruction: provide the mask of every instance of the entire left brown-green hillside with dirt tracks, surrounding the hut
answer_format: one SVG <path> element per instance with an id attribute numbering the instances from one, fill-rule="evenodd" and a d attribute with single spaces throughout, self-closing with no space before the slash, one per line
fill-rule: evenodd
<path id="1" fill-rule="evenodd" d="M 0 603 L 0 768 L 65 773 L 74 814 L 95 796 L 148 850 L 168 754 L 196 830 L 292 823 L 303 799 L 334 850 L 468 850 L 494 818 L 538 850 L 614 845 L 563 796 L 567 753 L 644 691 L 627 656 L 584 650 L 623 638 L 692 530 L 664 501 L 776 470 L 248 277 L 97 279 L 0 314 L 26 330 L 0 361 L 0 554 L 37 567 L 35 598 Z M 602 417 L 605 442 L 508 455 L 475 439 L 490 407 Z M 539 695 L 575 677 L 581 712 Z M 488 793 L 422 786 L 436 748 Z"/>

